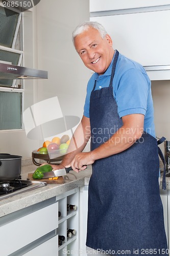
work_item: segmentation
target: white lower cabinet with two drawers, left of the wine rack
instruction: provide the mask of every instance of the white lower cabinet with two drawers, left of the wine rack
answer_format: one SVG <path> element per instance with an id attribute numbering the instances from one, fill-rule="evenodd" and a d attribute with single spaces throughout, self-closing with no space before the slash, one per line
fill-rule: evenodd
<path id="1" fill-rule="evenodd" d="M 57 228 L 58 202 L 55 198 L 4 216 L 0 219 L 1 256 L 19 256 L 28 252 L 28 255 L 35 255 L 32 251 L 38 250 L 36 247 L 41 248 L 41 244 L 52 238 L 57 240 Z M 55 243 L 51 255 L 57 255 L 57 250 L 58 243 Z M 48 253 L 47 247 L 45 252 Z"/>

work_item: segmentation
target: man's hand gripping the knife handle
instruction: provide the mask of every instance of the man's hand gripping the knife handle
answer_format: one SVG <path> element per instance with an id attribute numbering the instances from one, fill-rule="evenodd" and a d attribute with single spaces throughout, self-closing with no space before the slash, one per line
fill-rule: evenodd
<path id="1" fill-rule="evenodd" d="M 85 170 L 87 165 L 92 163 L 94 163 L 94 159 L 92 159 L 91 152 L 82 152 L 77 154 L 70 164 L 66 165 L 65 167 L 71 166 L 76 173 L 79 173 L 80 170 Z"/>

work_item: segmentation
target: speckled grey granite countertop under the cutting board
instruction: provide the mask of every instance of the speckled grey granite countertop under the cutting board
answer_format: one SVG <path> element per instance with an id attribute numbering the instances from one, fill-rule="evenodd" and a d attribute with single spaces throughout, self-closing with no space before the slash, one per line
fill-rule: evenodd
<path id="1" fill-rule="evenodd" d="M 22 180 L 26 180 L 28 174 L 33 173 L 36 168 L 37 166 L 32 164 L 31 161 L 28 161 L 27 165 L 22 166 Z M 47 186 L 36 188 L 34 190 L 13 197 L 0 200 L 0 217 L 6 216 L 14 211 L 42 202 L 52 197 L 58 196 L 71 189 L 88 185 L 91 171 L 91 166 L 88 166 L 86 170 L 83 170 L 80 173 L 70 171 L 70 173 L 67 174 L 67 177 L 64 180 L 63 184 L 47 184 Z M 160 178 L 160 189 L 161 187 L 162 178 Z M 170 178 L 166 178 L 166 189 L 170 189 Z"/>

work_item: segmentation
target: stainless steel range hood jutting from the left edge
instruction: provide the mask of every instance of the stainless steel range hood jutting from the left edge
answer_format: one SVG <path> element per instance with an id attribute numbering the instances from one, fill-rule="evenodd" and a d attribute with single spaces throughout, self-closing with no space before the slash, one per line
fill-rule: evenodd
<path id="1" fill-rule="evenodd" d="M 0 79 L 47 79 L 47 71 L 0 62 Z"/>

